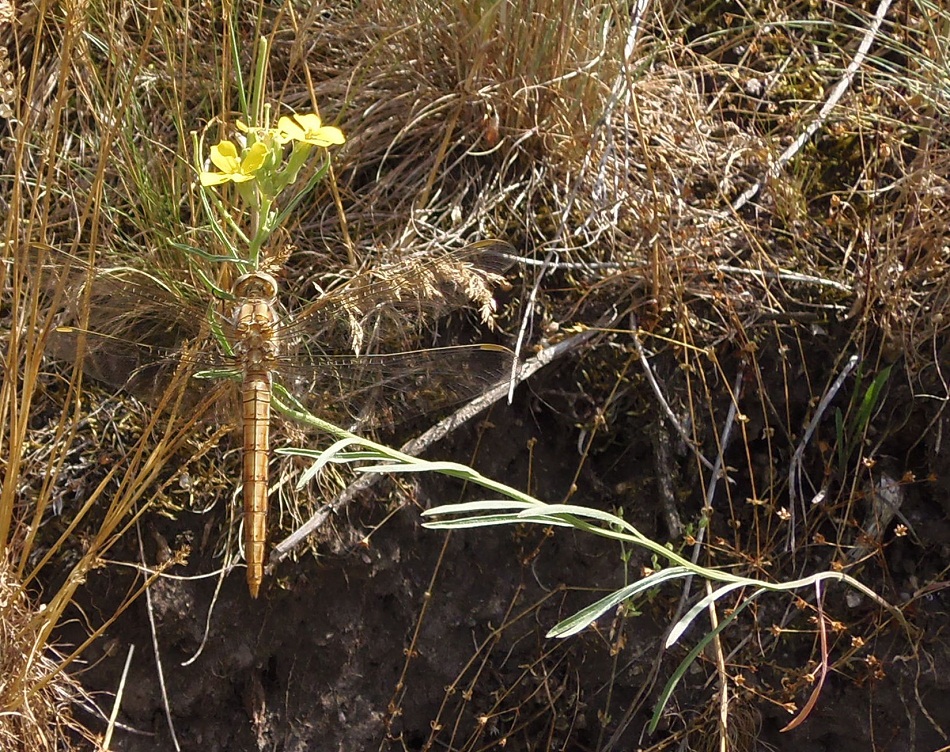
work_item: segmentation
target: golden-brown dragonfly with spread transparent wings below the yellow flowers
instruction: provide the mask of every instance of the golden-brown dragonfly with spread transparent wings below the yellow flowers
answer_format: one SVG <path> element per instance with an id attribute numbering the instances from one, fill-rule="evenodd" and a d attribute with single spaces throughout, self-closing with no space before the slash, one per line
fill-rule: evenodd
<path id="1" fill-rule="evenodd" d="M 370 351 L 376 340 L 387 338 L 387 331 L 391 334 L 407 322 L 442 311 L 477 304 L 487 320 L 492 289 L 503 284 L 513 252 L 505 241 L 485 240 L 431 258 L 410 258 L 357 275 L 293 311 L 278 303 L 280 285 L 273 265 L 240 275 L 228 300 L 215 301 L 204 313 L 189 310 L 168 286 L 152 284 L 154 280 L 139 270 L 87 269 L 82 290 L 73 297 L 88 301 L 89 324 L 58 331 L 82 336 L 88 372 L 107 382 L 107 375 L 95 368 L 97 353 L 110 359 L 112 370 L 132 374 L 126 385 L 163 363 L 184 363 L 240 381 L 244 551 L 248 590 L 257 598 L 267 548 L 275 383 L 291 395 L 302 391 L 315 396 L 322 403 L 320 412 L 336 407 L 335 417 L 350 415 L 357 428 L 360 421 L 367 424 L 376 406 L 372 398 L 380 395 L 385 401 L 380 412 L 394 417 L 473 396 L 506 372 L 510 351 L 492 345 Z M 156 323 L 163 309 L 170 314 L 171 326 Z M 130 339 L 150 339 L 156 331 L 164 334 L 182 322 L 203 324 L 200 344 L 172 354 Z M 344 349 L 344 340 L 353 354 L 332 350 L 333 343 Z M 414 392 L 422 393 L 416 401 L 410 398 Z M 360 400 L 366 404 L 357 410 L 353 406 Z"/>

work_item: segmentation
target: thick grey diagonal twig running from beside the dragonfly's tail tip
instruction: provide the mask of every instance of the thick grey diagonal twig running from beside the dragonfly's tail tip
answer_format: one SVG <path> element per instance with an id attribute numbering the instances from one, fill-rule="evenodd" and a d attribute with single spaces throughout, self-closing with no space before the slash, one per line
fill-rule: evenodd
<path id="1" fill-rule="evenodd" d="M 569 337 L 566 340 L 558 342 L 556 345 L 551 345 L 550 347 L 545 348 L 517 369 L 518 373 L 516 383 L 520 384 L 521 382 L 525 381 L 539 369 L 553 362 L 557 358 L 571 352 L 572 350 L 576 350 L 581 345 L 589 342 L 591 339 L 597 336 L 597 334 L 598 332 L 593 329 L 586 330 L 580 332 L 579 334 L 575 334 L 573 337 Z M 404 444 L 399 451 L 403 454 L 409 455 L 418 455 L 421 452 L 424 452 L 429 446 L 437 441 L 440 441 L 460 425 L 468 420 L 471 420 L 482 410 L 494 404 L 506 394 L 508 394 L 509 384 L 510 382 L 508 378 L 498 381 L 495 386 L 491 387 L 483 395 L 467 403 L 458 411 L 440 421 L 417 438 Z M 274 546 L 274 550 L 271 551 L 270 559 L 267 563 L 268 574 L 273 572 L 274 566 L 286 559 L 287 556 L 296 548 L 298 548 L 308 536 L 310 536 L 321 525 L 323 525 L 323 523 L 326 522 L 331 514 L 334 514 L 338 510 L 345 507 L 361 492 L 371 488 L 379 481 L 381 477 L 382 476 L 377 473 L 367 473 L 366 475 L 360 477 L 347 486 L 347 488 L 344 489 L 344 491 L 336 499 L 317 510 L 317 512 L 303 525 L 301 525 L 293 533 Z"/>

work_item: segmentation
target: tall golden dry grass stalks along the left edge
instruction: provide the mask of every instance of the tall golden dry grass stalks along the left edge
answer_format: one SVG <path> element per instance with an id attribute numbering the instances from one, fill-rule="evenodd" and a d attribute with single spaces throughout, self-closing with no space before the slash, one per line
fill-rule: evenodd
<path id="1" fill-rule="evenodd" d="M 86 433 L 102 423 L 98 411 L 88 412 L 82 370 L 51 369 L 43 358 L 56 314 L 74 292 L 67 277 L 51 273 L 50 244 L 89 253 L 116 238 L 114 223 L 123 224 L 129 242 L 139 233 L 137 222 L 160 232 L 159 207 L 149 203 L 149 192 L 125 181 L 153 185 L 147 171 L 161 174 L 161 165 L 118 138 L 130 108 L 116 99 L 128 82 L 105 75 L 117 75 L 120 66 L 93 67 L 95 35 L 86 32 L 94 19 L 77 13 L 30 6 L 0 28 L 16 95 L 5 95 L 13 117 L 5 123 L 0 268 L 4 749 L 63 749 L 81 739 L 82 727 L 71 720 L 71 705 L 81 695 L 66 671 L 153 578 L 133 587 L 99 623 L 77 611 L 74 596 L 147 509 L 146 493 L 160 491 L 195 424 L 178 411 L 179 379 L 132 443 L 108 447 Z M 142 199 L 135 213 L 126 212 L 132 202 L 110 199 L 123 187 Z M 59 407 L 51 411 L 54 404 Z M 54 650 L 54 631 L 77 617 L 85 639 Z"/>

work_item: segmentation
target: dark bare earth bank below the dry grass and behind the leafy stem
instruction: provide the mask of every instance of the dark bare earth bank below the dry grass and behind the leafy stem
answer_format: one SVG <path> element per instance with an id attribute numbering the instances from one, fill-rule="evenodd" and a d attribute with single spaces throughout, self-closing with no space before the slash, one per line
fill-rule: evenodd
<path id="1" fill-rule="evenodd" d="M 669 432 L 641 372 L 630 372 L 619 396 L 608 397 L 607 389 L 597 386 L 597 370 L 616 369 L 615 353 L 624 347 L 630 351 L 629 341 L 619 337 L 610 344 L 603 340 L 583 356 L 549 366 L 518 389 L 511 406 L 495 405 L 427 456 L 472 464 L 489 477 L 529 488 L 540 499 L 570 498 L 620 510 L 641 532 L 664 541 L 670 519 L 664 499 L 672 486 L 675 515 L 695 530 L 708 473 L 698 477 L 696 462 Z M 821 358 L 815 352 L 810 358 L 812 383 L 829 383 L 837 372 L 831 356 L 822 366 L 816 366 Z M 726 373 L 740 367 L 727 353 L 722 359 Z M 763 355 L 759 366 L 772 374 L 763 384 L 776 400 L 788 395 L 788 414 L 801 421 L 795 428 L 800 436 L 811 415 L 809 395 L 801 389 L 786 392 L 772 365 Z M 653 366 L 666 376 L 660 380 L 664 388 L 680 399 L 677 390 L 685 382 L 669 354 L 655 358 Z M 792 363 L 793 373 L 794 368 Z M 878 421 L 886 425 L 877 436 L 882 440 L 878 462 L 868 475 L 903 476 L 898 517 L 883 535 L 869 540 L 873 536 L 861 532 L 870 514 L 866 499 L 859 498 L 848 513 L 840 502 L 809 505 L 808 532 L 799 530 L 797 556 L 774 541 L 761 555 L 773 560 L 766 576 L 794 579 L 830 568 L 835 558 L 832 548 L 815 544 L 816 534 L 831 540 L 844 536 L 842 545 L 856 545 L 860 538 L 871 553 L 850 573 L 902 606 L 913 634 L 867 599 L 827 586 L 824 616 L 829 624 L 843 625 L 828 632 L 831 669 L 804 722 L 781 732 L 797 714 L 782 703 L 792 701 L 800 711 L 814 689 L 805 675 L 816 670 L 821 656 L 815 598 L 813 591 L 800 592 L 804 600 L 797 602 L 788 594 L 763 596 L 722 635 L 733 679 L 730 749 L 864 752 L 938 750 L 950 744 L 950 702 L 944 694 L 950 684 L 944 636 L 950 527 L 948 481 L 941 473 L 948 449 L 937 433 L 944 419 L 938 417 L 928 428 L 933 408 L 905 398 L 897 382 L 889 405 L 899 403 L 905 412 Z M 725 385 L 719 390 L 725 392 Z M 852 377 L 833 404 L 846 408 L 856 390 Z M 737 490 L 727 500 L 719 484 L 709 538 L 716 541 L 713 565 L 744 562 L 746 572 L 755 552 L 750 548 L 738 556 L 725 541 L 733 534 L 730 523 L 732 529 L 736 521 L 750 524 L 750 505 L 740 502 L 749 496 L 746 469 L 755 467 L 746 447 L 752 454 L 764 451 L 755 435 L 757 422 L 761 431 L 762 404 L 754 385 L 747 385 L 740 407 L 749 416 L 749 441 L 733 439 L 726 453 Z M 717 431 L 727 410 L 725 401 L 715 405 Z M 603 421 L 582 457 L 578 447 L 590 438 L 597 416 Z M 831 419 L 819 424 L 808 450 L 805 469 L 811 479 L 828 474 L 822 442 L 834 441 L 833 424 Z M 704 451 L 715 457 L 714 436 L 708 427 L 703 431 Z M 797 441 L 786 443 L 773 445 L 779 447 L 774 453 L 780 481 L 787 477 Z M 662 479 L 668 481 L 666 491 Z M 836 482 L 832 478 L 829 498 L 835 497 Z M 776 507 L 788 503 L 784 487 L 774 493 Z M 219 593 L 216 578 L 159 580 L 150 592 L 150 609 L 179 748 L 717 748 L 719 685 L 711 648 L 687 671 L 659 729 L 652 735 L 645 730 L 664 683 L 700 631 L 708 629 L 708 621 L 700 619 L 699 627 L 661 654 L 682 593 L 679 581 L 638 599 L 635 609 L 623 615 L 608 614 L 578 636 L 546 638 L 560 619 L 655 563 L 646 552 L 625 551 L 616 542 L 567 529 L 512 526 L 445 533 L 421 527 L 420 509 L 457 501 L 459 494 L 457 484 L 435 476 L 398 491 L 390 481 L 378 484 L 318 533 L 319 557 L 306 554 L 282 562 L 276 575 L 265 579 L 258 600 L 249 597 L 242 569 L 224 579 Z M 218 508 L 213 514 L 225 513 Z M 906 535 L 895 533 L 900 520 L 910 529 Z M 207 537 L 207 524 L 189 513 L 149 517 L 146 561 L 160 560 L 166 542 L 174 547 L 191 541 L 187 565 L 171 571 L 214 571 L 220 561 L 211 547 L 194 543 Z M 814 545 L 802 543 L 803 535 Z M 744 540 L 752 546 L 766 537 Z M 686 556 L 692 548 L 682 537 L 673 545 Z M 111 554 L 138 560 L 131 543 L 128 550 Z M 60 644 L 81 641 L 81 625 L 106 620 L 133 584 L 126 569 L 93 572 L 81 591 L 82 613 L 75 612 L 79 618 L 63 629 Z M 702 588 L 692 583 L 693 601 Z M 722 605 L 720 617 L 733 603 Z M 108 711 L 129 646 L 135 646 L 122 694 L 121 728 L 112 742 L 117 750 L 175 748 L 148 610 L 146 599 L 139 598 L 86 651 L 85 668 L 78 672 Z M 783 628 L 776 637 L 772 628 L 779 624 Z M 101 718 L 80 715 L 80 720 L 104 729 Z"/>

